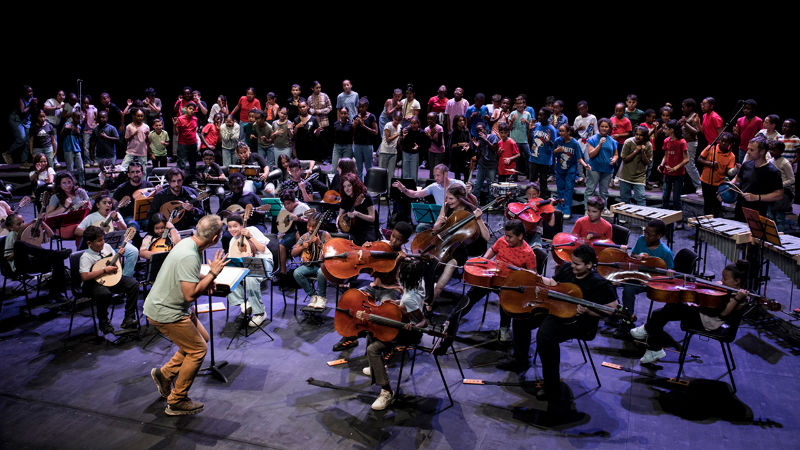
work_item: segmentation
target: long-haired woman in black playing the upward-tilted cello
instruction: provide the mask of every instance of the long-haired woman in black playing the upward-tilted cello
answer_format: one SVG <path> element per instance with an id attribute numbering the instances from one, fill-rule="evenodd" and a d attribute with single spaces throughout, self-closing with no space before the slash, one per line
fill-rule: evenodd
<path id="1" fill-rule="evenodd" d="M 463 266 L 470 256 L 482 255 L 486 251 L 487 241 L 489 240 L 489 229 L 486 227 L 486 224 L 483 223 L 483 218 L 481 217 L 483 211 L 475 204 L 475 197 L 467 192 L 464 186 L 457 184 L 453 184 L 447 188 L 447 195 L 444 197 L 444 206 L 441 211 L 439 211 L 439 217 L 433 224 L 432 231 L 434 233 L 443 231 L 447 218 L 454 212 L 468 211 L 475 215 L 475 220 L 478 222 L 478 227 L 480 228 L 480 236 L 477 236 L 472 243 L 467 246 L 458 246 L 453 252 L 453 258 L 450 261 L 439 261 L 445 264 L 445 266 L 433 289 L 434 299 L 439 298 L 445 286 L 447 286 L 447 283 L 450 282 L 456 265 Z"/>

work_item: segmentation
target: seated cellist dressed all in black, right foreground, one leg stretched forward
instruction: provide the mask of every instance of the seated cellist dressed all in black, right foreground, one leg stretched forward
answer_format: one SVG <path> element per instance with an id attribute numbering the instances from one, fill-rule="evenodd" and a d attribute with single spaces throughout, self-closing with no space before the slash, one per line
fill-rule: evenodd
<path id="1" fill-rule="evenodd" d="M 572 261 L 558 268 L 552 279 L 543 280 L 554 286 L 557 283 L 574 283 L 581 288 L 583 297 L 591 302 L 610 307 L 617 306 L 617 292 L 611 283 L 595 270 L 597 254 L 589 245 L 581 245 L 572 252 Z M 577 317 L 560 319 L 546 316 L 536 333 L 536 350 L 542 359 L 544 395 L 547 399 L 547 423 L 557 424 L 569 420 L 569 404 L 561 398 L 560 362 L 561 343 L 569 339 L 593 339 L 602 313 L 578 305 Z M 528 365 L 530 350 L 529 319 L 515 320 L 514 358 Z"/>

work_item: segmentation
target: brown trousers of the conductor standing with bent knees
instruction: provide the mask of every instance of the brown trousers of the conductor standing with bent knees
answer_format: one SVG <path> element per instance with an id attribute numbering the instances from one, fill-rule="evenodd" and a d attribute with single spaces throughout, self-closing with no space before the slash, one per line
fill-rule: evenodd
<path id="1" fill-rule="evenodd" d="M 167 403 L 174 405 L 188 397 L 189 388 L 206 357 L 208 332 L 194 314 L 172 323 L 156 322 L 149 317 L 147 320 L 178 346 L 178 351 L 160 369 L 168 380 L 175 380 L 167 398 Z"/>

